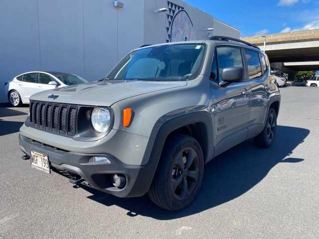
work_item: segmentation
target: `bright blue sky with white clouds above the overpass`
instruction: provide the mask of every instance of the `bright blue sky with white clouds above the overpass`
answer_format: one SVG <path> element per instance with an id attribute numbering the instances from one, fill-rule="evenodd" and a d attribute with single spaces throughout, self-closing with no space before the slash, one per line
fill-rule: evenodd
<path id="1" fill-rule="evenodd" d="M 184 0 L 241 31 L 241 36 L 319 29 L 319 0 Z"/>

